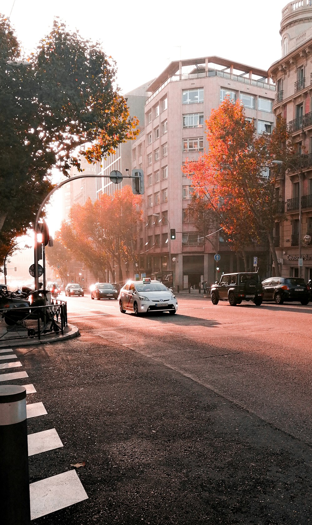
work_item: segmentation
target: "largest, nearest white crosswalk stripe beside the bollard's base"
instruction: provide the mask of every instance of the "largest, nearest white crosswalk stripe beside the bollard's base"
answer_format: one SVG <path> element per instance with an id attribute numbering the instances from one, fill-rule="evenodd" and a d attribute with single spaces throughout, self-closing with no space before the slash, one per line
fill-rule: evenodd
<path id="1" fill-rule="evenodd" d="M 31 483 L 29 490 L 32 520 L 88 499 L 76 470 Z"/>

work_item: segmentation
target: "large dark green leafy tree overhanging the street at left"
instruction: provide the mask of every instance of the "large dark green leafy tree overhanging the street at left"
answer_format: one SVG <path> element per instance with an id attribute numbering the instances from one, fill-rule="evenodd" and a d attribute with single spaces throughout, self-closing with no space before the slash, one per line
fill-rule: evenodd
<path id="1" fill-rule="evenodd" d="M 137 119 L 114 87 L 115 65 L 99 44 L 55 20 L 36 53 L 21 60 L 0 15 L 0 242 L 24 233 L 52 188 L 80 158 L 100 161 L 133 139 Z"/>

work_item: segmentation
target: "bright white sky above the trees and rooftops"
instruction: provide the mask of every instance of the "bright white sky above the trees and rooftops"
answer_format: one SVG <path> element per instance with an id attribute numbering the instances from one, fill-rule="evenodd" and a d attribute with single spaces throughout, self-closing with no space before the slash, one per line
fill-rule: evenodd
<path id="1" fill-rule="evenodd" d="M 158 76 L 172 60 L 217 55 L 268 69 L 281 57 L 285 0 L 2 0 L 25 51 L 33 51 L 58 16 L 99 41 L 117 63 L 123 93 Z"/>

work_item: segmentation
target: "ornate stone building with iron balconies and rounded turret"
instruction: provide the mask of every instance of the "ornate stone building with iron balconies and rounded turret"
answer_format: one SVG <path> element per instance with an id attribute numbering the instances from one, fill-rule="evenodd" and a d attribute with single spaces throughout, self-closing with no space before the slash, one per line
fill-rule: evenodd
<path id="1" fill-rule="evenodd" d="M 312 2 L 291 2 L 282 10 L 282 58 L 268 74 L 276 84 L 275 116 L 286 119 L 299 154 L 280 176 L 276 192 L 281 217 L 274 241 L 281 275 L 312 277 Z M 302 266 L 299 266 L 299 259 Z"/>

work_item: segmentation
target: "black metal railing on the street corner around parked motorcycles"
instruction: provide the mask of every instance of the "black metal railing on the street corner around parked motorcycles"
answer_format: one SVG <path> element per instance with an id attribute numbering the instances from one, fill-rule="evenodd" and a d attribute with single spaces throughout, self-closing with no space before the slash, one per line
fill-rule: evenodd
<path id="1" fill-rule="evenodd" d="M 40 341 L 49 333 L 63 334 L 67 327 L 67 302 L 56 300 L 47 306 L 3 308 L 0 309 L 0 318 L 6 325 L 6 332 L 0 335 L 0 342 L 34 338 Z"/>

